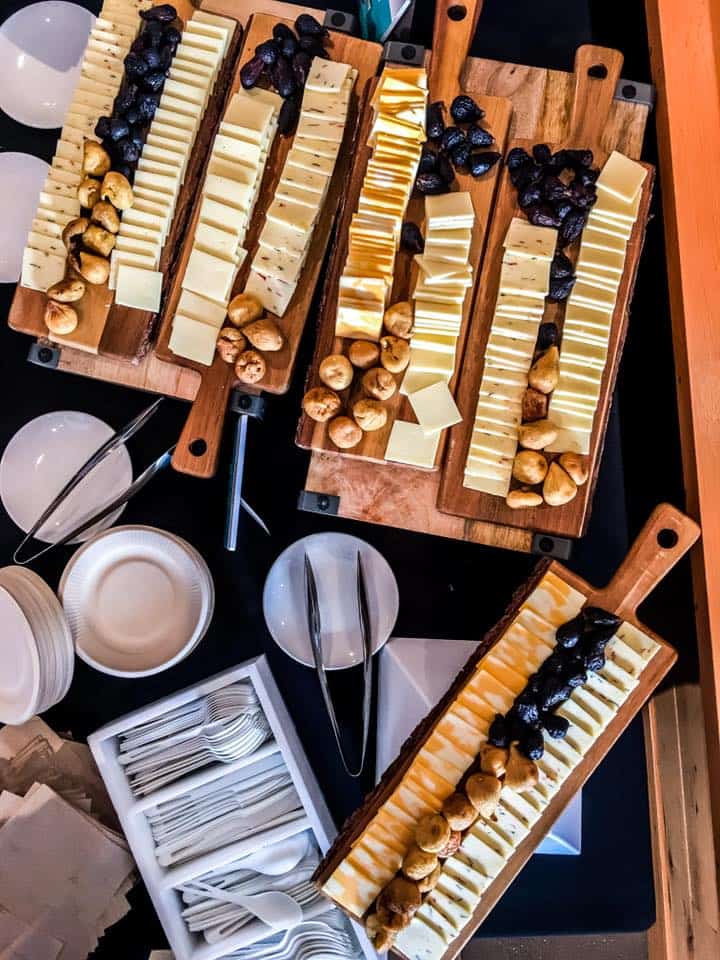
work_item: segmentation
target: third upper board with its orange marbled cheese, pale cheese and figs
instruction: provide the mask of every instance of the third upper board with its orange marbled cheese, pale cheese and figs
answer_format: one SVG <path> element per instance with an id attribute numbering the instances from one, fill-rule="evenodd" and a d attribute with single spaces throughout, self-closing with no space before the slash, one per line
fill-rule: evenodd
<path id="1" fill-rule="evenodd" d="M 437 5 L 429 68 L 387 65 L 372 91 L 325 287 L 300 446 L 422 470 L 442 462 L 511 113 L 504 98 L 462 93 L 479 7 L 454 19 L 450 6 Z"/>

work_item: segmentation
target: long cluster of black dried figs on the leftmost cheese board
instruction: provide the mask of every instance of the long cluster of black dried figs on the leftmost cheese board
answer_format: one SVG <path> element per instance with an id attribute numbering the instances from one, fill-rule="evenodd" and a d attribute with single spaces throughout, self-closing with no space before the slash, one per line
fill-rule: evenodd
<path id="1" fill-rule="evenodd" d="M 169 3 L 143 10 L 140 16 L 145 25 L 125 57 L 125 76 L 112 116 L 100 117 L 95 124 L 95 135 L 110 154 L 113 170 L 130 181 L 181 40 L 174 26 L 177 11 Z"/>

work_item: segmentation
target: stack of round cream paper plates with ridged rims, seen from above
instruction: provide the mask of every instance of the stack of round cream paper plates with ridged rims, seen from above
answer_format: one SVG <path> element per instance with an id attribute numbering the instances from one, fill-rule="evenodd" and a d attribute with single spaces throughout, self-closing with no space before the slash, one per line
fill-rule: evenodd
<path id="1" fill-rule="evenodd" d="M 205 562 L 152 527 L 117 527 L 81 547 L 58 595 L 78 656 L 103 673 L 145 677 L 184 659 L 210 623 Z"/>

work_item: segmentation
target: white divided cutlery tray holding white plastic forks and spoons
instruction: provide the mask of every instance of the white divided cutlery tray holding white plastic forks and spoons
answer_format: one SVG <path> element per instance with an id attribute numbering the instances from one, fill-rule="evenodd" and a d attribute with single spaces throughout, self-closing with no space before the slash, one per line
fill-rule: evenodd
<path id="1" fill-rule="evenodd" d="M 170 710 L 240 680 L 249 681 L 255 689 L 272 730 L 273 739 L 241 760 L 204 767 L 155 790 L 146 797 L 135 797 L 130 789 L 125 770 L 118 759 L 120 752 L 118 737 L 138 724 L 162 717 Z M 320 850 L 325 853 L 337 832 L 265 657 L 248 660 L 231 670 L 226 670 L 156 703 L 128 713 L 93 733 L 88 738 L 88 743 L 176 960 L 216 960 L 233 950 L 270 936 L 270 929 L 258 920 L 248 923 L 237 934 L 219 943 L 209 944 L 204 937 L 190 933 L 188 930 L 181 916 L 182 898 L 175 889 L 180 884 L 187 883 L 210 870 L 232 864 L 262 847 L 306 830 L 312 832 Z M 170 868 L 160 866 L 155 857 L 155 843 L 150 825 L 145 817 L 148 809 L 187 793 L 195 787 L 220 780 L 242 768 L 257 767 L 258 770 L 262 770 L 266 765 L 263 761 L 277 753 L 282 755 L 292 777 L 305 811 L 304 816 L 290 823 L 273 827 L 259 835 L 239 840 L 212 853 L 202 854 L 187 863 Z M 336 909 L 330 901 L 323 900 L 305 908 L 304 919 L 310 920 Z M 377 954 L 365 936 L 364 930 L 348 918 L 346 921 L 348 929 L 352 929 L 365 956 L 368 960 L 375 960 Z"/>

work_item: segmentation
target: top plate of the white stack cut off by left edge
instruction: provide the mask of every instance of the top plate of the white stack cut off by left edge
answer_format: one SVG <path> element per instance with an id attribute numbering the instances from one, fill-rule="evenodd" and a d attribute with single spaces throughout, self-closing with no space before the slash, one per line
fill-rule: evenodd
<path id="1" fill-rule="evenodd" d="M 20 604 L 0 587 L 0 723 L 25 723 L 40 696 L 40 659 Z"/>

